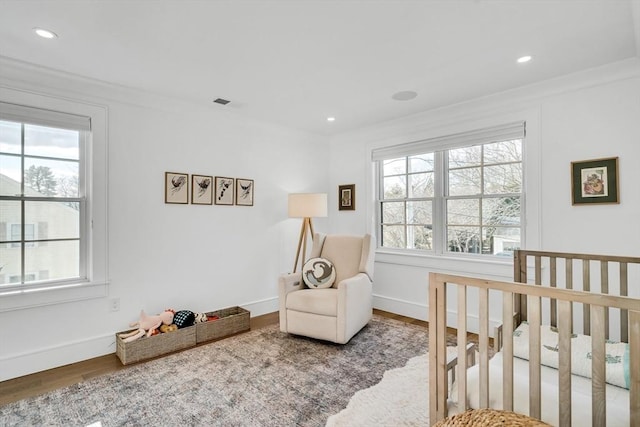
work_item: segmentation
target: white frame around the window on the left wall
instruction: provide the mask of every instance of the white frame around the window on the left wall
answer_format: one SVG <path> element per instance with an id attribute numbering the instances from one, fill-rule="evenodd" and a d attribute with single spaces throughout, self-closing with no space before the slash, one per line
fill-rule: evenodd
<path id="1" fill-rule="evenodd" d="M 79 280 L 46 282 L 40 285 L 0 288 L 0 312 L 39 307 L 70 301 L 100 298 L 108 295 L 107 239 L 107 108 L 83 101 L 55 97 L 31 91 L 0 87 L 0 102 L 69 115 L 88 117 L 91 132 L 83 156 L 84 189 L 87 198 L 84 220 L 84 270 Z"/>

